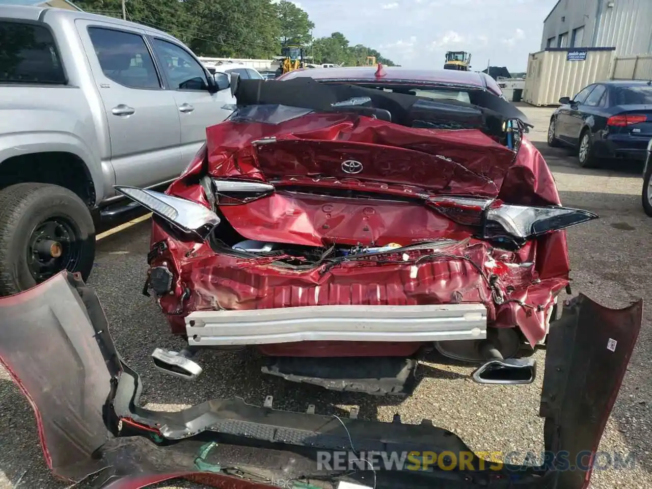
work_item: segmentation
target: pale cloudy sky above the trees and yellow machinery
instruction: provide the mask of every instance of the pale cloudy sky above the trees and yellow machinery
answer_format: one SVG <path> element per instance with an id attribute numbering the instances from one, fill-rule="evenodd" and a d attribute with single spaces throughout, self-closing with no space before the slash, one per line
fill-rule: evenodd
<path id="1" fill-rule="evenodd" d="M 557 0 L 295 0 L 314 37 L 339 31 L 409 68 L 441 68 L 447 51 L 471 53 L 471 69 L 525 71 L 541 49 L 543 20 Z"/>

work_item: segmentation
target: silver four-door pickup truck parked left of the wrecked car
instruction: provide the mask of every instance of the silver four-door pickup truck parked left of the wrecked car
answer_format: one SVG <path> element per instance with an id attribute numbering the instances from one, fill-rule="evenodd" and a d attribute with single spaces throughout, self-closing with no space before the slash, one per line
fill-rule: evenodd
<path id="1" fill-rule="evenodd" d="M 113 185 L 175 179 L 231 113 L 228 88 L 151 27 L 0 5 L 0 296 L 86 279 L 96 229 L 135 210 Z"/>

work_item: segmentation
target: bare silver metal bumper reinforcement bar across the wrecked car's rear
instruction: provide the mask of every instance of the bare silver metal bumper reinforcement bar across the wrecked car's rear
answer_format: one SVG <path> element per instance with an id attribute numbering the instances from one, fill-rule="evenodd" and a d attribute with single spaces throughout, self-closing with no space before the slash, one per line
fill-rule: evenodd
<path id="1" fill-rule="evenodd" d="M 300 306 L 196 311 L 185 318 L 193 346 L 300 341 L 431 342 L 486 338 L 482 304 Z"/>

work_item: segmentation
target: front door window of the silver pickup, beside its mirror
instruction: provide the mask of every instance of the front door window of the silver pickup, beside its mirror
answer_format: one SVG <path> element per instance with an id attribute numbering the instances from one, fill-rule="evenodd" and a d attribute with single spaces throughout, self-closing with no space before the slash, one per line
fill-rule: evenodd
<path id="1" fill-rule="evenodd" d="M 162 39 L 154 39 L 156 57 L 174 90 L 207 90 L 206 72 L 185 49 Z"/>

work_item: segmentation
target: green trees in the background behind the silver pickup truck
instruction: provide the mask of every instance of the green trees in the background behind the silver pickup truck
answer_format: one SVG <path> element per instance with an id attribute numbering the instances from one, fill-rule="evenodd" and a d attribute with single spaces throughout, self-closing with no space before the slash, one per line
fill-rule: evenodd
<path id="1" fill-rule="evenodd" d="M 121 0 L 76 0 L 83 10 L 122 17 Z M 295 4 L 281 0 L 126 0 L 126 18 L 170 33 L 198 55 L 271 59 L 280 55 L 281 43 L 310 44 L 314 23 Z M 340 32 L 314 39 L 316 63 L 346 66 L 366 64 L 367 56 L 379 63 L 394 63 L 357 44 L 349 46 Z M 312 52 L 309 49 L 308 52 Z"/>

